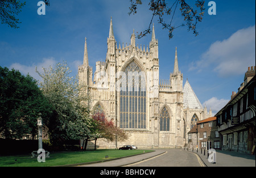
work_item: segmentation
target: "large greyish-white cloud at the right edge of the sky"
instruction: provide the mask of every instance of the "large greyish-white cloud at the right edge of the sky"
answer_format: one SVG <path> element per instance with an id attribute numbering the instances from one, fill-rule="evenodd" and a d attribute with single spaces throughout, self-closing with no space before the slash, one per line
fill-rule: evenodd
<path id="1" fill-rule="evenodd" d="M 213 67 L 221 77 L 240 75 L 249 66 L 255 65 L 255 25 L 233 33 L 228 39 L 216 41 L 201 60 L 191 63 L 190 70 L 201 71 Z"/>

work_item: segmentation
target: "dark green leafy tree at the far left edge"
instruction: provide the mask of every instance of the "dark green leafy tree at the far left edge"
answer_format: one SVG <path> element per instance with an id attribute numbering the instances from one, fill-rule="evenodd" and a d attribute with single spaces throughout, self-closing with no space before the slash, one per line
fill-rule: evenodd
<path id="1" fill-rule="evenodd" d="M 38 113 L 51 116 L 51 106 L 36 80 L 0 66 L 0 134 L 7 139 L 37 134 Z"/>

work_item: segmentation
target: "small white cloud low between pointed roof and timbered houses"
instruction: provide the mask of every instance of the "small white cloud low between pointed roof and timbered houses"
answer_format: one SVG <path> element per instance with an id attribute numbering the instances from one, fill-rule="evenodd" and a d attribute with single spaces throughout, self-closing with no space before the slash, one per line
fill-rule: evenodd
<path id="1" fill-rule="evenodd" d="M 218 111 L 220 111 L 220 109 L 222 109 L 228 103 L 228 101 L 229 100 L 217 99 L 216 97 L 213 97 L 205 101 L 203 105 L 206 105 L 208 109 L 212 109 L 212 114 L 214 116 Z"/>

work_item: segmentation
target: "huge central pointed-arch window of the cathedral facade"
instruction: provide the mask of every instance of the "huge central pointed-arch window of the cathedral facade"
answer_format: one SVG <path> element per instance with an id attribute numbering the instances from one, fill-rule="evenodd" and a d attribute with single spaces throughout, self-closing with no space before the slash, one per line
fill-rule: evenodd
<path id="1" fill-rule="evenodd" d="M 146 129 L 146 77 L 135 61 L 124 73 L 120 84 L 120 128 Z"/>

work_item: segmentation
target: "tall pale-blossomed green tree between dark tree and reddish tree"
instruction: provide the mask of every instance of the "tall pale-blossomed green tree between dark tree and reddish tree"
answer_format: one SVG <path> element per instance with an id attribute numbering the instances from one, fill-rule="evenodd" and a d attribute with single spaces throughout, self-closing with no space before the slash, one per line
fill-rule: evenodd
<path id="1" fill-rule="evenodd" d="M 43 68 L 43 73 L 36 71 L 43 79 L 40 88 L 53 107 L 53 116 L 45 121 L 52 143 L 90 134 L 89 98 L 79 86 L 78 76 L 69 76 L 71 70 L 67 62 Z"/>

